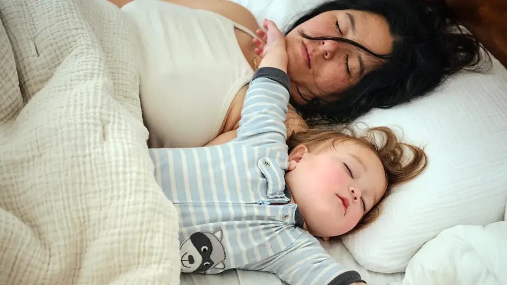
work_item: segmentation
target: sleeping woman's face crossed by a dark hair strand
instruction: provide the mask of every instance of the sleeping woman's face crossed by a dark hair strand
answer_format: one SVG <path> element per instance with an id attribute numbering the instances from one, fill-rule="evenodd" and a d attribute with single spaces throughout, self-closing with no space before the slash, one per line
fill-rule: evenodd
<path id="1" fill-rule="evenodd" d="M 376 54 L 392 51 L 392 37 L 386 19 L 356 11 L 328 11 L 300 24 L 286 36 L 291 97 L 299 105 L 313 98 L 333 101 L 331 96 L 353 86 L 382 60 L 367 52 L 336 41 L 308 40 L 309 37 L 343 37 Z"/>

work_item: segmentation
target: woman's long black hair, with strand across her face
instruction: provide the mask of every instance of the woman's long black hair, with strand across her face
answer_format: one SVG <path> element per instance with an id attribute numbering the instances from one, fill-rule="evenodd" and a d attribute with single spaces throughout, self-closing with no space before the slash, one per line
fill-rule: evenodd
<path id="1" fill-rule="evenodd" d="M 479 67 L 481 48 L 472 34 L 464 32 L 443 0 L 336 0 L 324 3 L 296 20 L 285 34 L 327 11 L 359 10 L 381 15 L 389 24 L 393 50 L 377 55 L 353 41 L 338 37 L 312 37 L 356 46 L 385 59 L 356 85 L 336 94 L 333 102 L 319 98 L 306 105 L 292 102 L 305 119 L 315 114 L 338 123 L 348 123 L 372 108 L 389 108 L 422 96 L 462 68 Z"/>

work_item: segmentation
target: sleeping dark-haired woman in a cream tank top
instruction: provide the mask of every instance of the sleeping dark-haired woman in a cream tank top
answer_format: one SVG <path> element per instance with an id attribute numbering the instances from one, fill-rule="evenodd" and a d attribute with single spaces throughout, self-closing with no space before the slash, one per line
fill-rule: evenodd
<path id="1" fill-rule="evenodd" d="M 110 0 L 135 34 L 149 147 L 236 137 L 261 58 L 256 18 L 224 0 Z M 444 1 L 335 0 L 284 32 L 291 80 L 287 133 L 315 117 L 347 123 L 423 96 L 480 61 Z"/>

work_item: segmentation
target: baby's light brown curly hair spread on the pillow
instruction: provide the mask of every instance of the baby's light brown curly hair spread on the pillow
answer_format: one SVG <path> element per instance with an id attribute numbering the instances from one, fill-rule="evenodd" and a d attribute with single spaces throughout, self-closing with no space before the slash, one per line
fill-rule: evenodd
<path id="1" fill-rule="evenodd" d="M 360 133 L 350 126 L 328 127 L 321 125 L 292 134 L 287 139 L 289 153 L 297 146 L 304 145 L 309 152 L 318 151 L 322 144 L 334 147 L 344 140 L 353 140 L 374 152 L 385 170 L 387 190 L 375 207 L 368 211 L 359 223 L 348 233 L 362 229 L 375 221 L 383 201 L 396 185 L 408 182 L 419 175 L 427 166 L 424 150 L 401 142 L 388 127 L 367 128 Z"/>

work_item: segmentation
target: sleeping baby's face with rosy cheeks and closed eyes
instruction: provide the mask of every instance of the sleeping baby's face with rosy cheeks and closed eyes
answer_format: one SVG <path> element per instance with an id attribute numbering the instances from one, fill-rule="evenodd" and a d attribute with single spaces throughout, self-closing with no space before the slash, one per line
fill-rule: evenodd
<path id="1" fill-rule="evenodd" d="M 311 153 L 304 146 L 296 147 L 289 154 L 285 181 L 306 229 L 320 237 L 350 231 L 378 203 L 387 187 L 380 159 L 353 140 Z"/>

